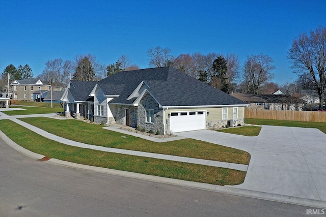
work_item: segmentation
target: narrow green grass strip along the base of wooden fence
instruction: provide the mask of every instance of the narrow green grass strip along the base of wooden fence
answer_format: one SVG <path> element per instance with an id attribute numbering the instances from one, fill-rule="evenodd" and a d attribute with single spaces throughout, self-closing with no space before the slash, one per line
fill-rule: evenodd
<path id="1" fill-rule="evenodd" d="M 270 119 L 254 119 L 246 118 L 245 123 L 251 125 L 271 125 L 283 127 L 299 127 L 299 128 L 317 128 L 326 134 L 326 123 L 324 122 L 308 122 L 308 121 L 292 121 L 292 120 L 270 120 Z"/>

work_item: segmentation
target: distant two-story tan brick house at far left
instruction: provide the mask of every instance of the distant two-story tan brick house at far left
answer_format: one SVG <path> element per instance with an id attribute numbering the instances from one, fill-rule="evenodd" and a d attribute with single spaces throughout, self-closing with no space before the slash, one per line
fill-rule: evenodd
<path id="1" fill-rule="evenodd" d="M 49 84 L 35 78 L 14 80 L 10 85 L 12 86 L 13 100 L 33 101 L 35 91 L 50 89 Z"/>

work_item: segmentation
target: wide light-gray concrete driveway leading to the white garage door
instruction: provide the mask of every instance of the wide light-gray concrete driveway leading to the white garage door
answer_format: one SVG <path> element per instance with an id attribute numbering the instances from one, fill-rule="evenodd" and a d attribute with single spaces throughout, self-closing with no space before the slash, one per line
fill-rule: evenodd
<path id="1" fill-rule="evenodd" d="M 208 130 L 175 134 L 249 152 L 246 179 L 234 188 L 326 201 L 326 134 L 318 129 L 262 126 L 256 137 Z"/>

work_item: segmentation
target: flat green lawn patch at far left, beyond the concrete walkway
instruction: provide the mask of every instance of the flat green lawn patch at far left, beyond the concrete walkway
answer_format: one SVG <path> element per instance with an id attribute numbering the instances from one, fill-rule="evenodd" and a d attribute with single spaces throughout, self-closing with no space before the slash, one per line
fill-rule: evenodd
<path id="1" fill-rule="evenodd" d="M 63 112 L 63 108 L 46 108 L 46 107 L 27 107 L 27 106 L 10 106 L 10 108 L 21 108 L 24 110 L 3 111 L 7 115 L 25 115 L 25 114 L 47 114 Z"/>

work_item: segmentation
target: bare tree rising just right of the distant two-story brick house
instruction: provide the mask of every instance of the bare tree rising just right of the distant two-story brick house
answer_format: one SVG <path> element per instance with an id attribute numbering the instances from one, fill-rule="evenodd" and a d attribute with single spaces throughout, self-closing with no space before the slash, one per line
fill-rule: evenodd
<path id="1" fill-rule="evenodd" d="M 73 64 L 70 60 L 62 60 L 62 58 L 47 60 L 45 69 L 37 78 L 51 85 L 65 86 L 72 71 Z"/>

